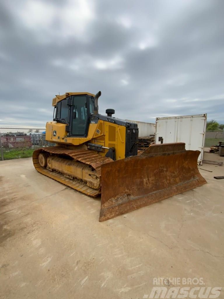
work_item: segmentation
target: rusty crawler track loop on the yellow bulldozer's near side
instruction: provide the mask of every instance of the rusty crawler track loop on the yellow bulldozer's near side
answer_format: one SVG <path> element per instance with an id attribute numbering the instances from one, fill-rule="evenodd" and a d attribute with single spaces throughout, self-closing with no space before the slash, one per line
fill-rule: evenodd
<path id="1" fill-rule="evenodd" d="M 85 181 L 82 181 L 80 179 L 68 179 L 64 176 L 63 173 L 57 172 L 57 171 L 50 171 L 47 170 L 47 168 L 42 167 L 39 163 L 38 156 L 41 152 L 48 153 L 50 155 L 56 155 L 59 157 L 65 157 L 66 156 L 72 158 L 75 161 L 82 162 L 84 164 L 90 165 L 93 167 L 94 170 L 96 170 L 97 175 L 101 177 L 101 165 L 112 162 L 113 160 L 111 158 L 102 157 L 101 155 L 98 155 L 93 150 L 88 149 L 66 149 L 65 147 L 45 147 L 36 149 L 33 152 L 33 165 L 35 169 L 45 175 L 49 178 L 58 181 L 72 189 L 78 190 L 86 195 L 96 197 L 101 193 L 101 188 L 99 189 L 93 189 L 91 187 L 88 187 Z"/>

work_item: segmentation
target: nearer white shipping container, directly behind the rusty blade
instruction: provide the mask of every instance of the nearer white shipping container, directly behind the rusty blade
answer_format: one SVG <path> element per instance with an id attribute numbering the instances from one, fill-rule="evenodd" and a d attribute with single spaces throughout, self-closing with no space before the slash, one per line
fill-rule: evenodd
<path id="1" fill-rule="evenodd" d="M 207 114 L 157 117 L 155 144 L 185 142 L 186 150 L 200 150 L 198 164 L 202 165 Z"/>

